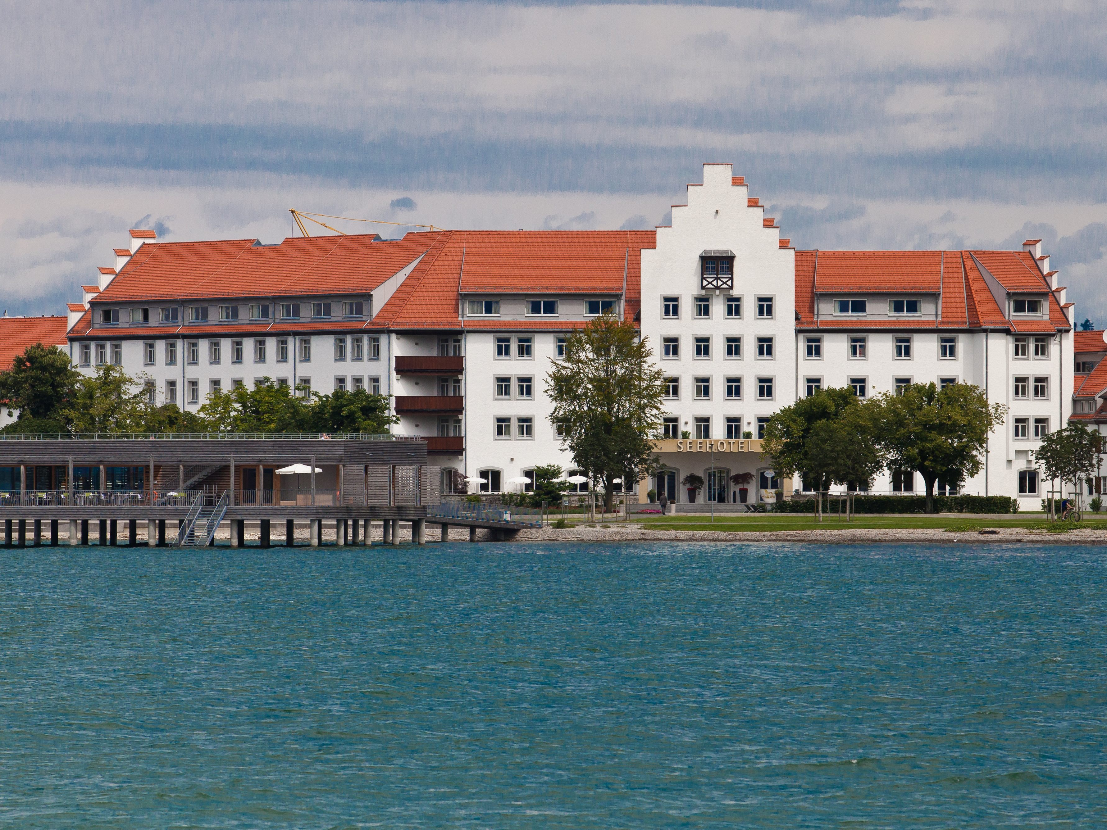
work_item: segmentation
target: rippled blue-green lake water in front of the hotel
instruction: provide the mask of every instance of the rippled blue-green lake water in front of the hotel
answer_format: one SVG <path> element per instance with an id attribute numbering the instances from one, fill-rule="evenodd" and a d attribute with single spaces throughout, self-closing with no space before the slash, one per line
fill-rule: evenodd
<path id="1" fill-rule="evenodd" d="M 4 550 L 0 826 L 1103 827 L 1103 552 Z"/>

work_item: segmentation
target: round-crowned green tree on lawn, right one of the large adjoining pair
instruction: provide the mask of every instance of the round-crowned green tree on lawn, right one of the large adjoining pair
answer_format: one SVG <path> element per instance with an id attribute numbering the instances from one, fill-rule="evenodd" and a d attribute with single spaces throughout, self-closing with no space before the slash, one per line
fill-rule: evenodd
<path id="1" fill-rule="evenodd" d="M 879 396 L 879 440 L 891 469 L 918 470 L 927 486 L 927 512 L 934 512 L 934 483 L 964 481 L 983 466 L 989 434 L 1006 415 L 968 383 L 939 390 L 911 384 Z"/>

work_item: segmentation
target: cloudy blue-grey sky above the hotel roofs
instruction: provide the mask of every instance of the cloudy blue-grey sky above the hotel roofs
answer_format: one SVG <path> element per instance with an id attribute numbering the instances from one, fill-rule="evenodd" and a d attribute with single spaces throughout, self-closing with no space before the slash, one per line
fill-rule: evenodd
<path id="1" fill-rule="evenodd" d="M 648 228 L 732 162 L 800 248 L 1041 237 L 1079 318 L 1107 323 L 1103 0 L 0 13 L 9 313 L 60 313 L 131 227 L 271 242 L 294 207 Z"/>

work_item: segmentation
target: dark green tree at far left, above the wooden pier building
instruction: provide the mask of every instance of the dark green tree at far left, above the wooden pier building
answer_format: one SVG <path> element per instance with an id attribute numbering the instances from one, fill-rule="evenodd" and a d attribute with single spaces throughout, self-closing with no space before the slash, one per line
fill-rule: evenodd
<path id="1" fill-rule="evenodd" d="M 70 405 L 80 377 L 68 354 L 35 343 L 15 355 L 11 369 L 0 372 L 0 401 L 9 415 L 18 412 L 20 421 L 60 427 L 44 432 L 64 432 L 62 411 Z"/>

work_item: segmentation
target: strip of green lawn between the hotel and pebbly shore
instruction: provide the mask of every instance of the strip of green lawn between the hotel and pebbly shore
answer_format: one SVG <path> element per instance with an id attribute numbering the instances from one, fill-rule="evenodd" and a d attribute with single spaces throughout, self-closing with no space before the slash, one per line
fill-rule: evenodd
<path id="1" fill-rule="evenodd" d="M 631 521 L 640 523 L 643 529 L 649 530 L 713 530 L 726 532 L 764 532 L 770 530 L 834 530 L 834 529 L 868 529 L 868 528 L 956 528 L 956 529 L 979 529 L 979 528 L 1015 528 L 1042 526 L 1048 521 L 1048 517 L 1042 513 L 1030 513 L 996 518 L 981 516 L 979 518 L 965 518 L 961 516 L 921 516 L 919 513 L 888 515 L 888 516 L 863 516 L 857 517 L 847 522 L 836 516 L 826 516 L 821 522 L 815 521 L 809 515 L 801 513 L 753 513 L 749 516 L 735 516 L 727 513 L 716 516 L 712 521 L 710 516 L 632 516 Z M 570 523 L 584 523 L 573 522 Z M 587 522 L 591 525 L 593 522 Z M 594 522 L 597 525 L 618 525 L 621 522 Z M 1107 516 L 1087 517 L 1082 527 L 1096 529 L 1107 528 Z"/>

